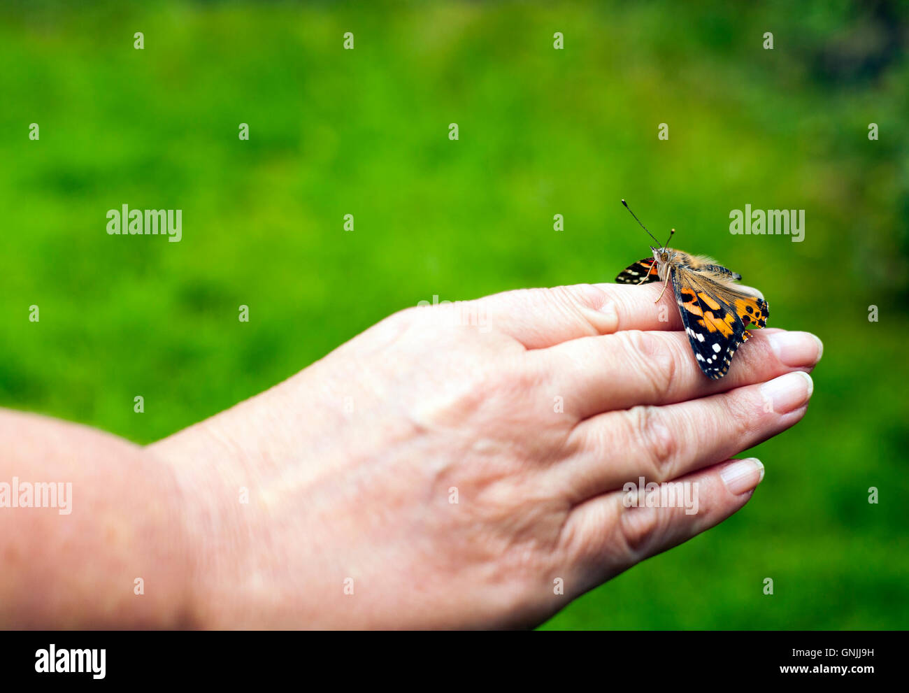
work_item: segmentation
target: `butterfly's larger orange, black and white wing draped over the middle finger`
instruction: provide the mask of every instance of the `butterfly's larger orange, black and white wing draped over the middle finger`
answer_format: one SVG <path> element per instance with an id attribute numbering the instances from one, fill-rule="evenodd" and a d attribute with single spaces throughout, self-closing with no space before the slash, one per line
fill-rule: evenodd
<path id="1" fill-rule="evenodd" d="M 751 336 L 748 324 L 767 324 L 767 302 L 684 267 L 674 266 L 672 278 L 694 360 L 706 377 L 718 380 L 729 371 L 736 349 Z"/>

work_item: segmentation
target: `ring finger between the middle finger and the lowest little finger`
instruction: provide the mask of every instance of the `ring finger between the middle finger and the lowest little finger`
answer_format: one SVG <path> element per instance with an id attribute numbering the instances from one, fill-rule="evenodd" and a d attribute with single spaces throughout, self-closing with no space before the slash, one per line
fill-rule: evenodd
<path id="1" fill-rule="evenodd" d="M 546 471 L 546 483 L 580 502 L 638 477 L 681 477 L 793 427 L 813 389 L 811 376 L 794 371 L 721 395 L 588 418 L 569 434 L 568 457 Z"/>

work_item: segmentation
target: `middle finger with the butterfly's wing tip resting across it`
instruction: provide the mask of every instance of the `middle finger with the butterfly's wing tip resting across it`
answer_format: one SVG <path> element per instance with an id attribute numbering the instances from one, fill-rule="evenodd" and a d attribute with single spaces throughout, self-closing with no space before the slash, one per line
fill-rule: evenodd
<path id="1" fill-rule="evenodd" d="M 824 353 L 808 332 L 754 330 L 725 377 L 704 376 L 684 332 L 625 330 L 574 339 L 535 352 L 564 411 L 578 418 L 635 405 L 664 405 L 760 383 L 795 369 L 811 370 Z"/>

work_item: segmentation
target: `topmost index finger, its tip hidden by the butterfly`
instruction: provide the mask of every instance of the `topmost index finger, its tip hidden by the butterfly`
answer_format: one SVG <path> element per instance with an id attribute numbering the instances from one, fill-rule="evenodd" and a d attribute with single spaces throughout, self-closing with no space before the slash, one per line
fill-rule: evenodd
<path id="1" fill-rule="evenodd" d="M 618 330 L 681 330 L 673 292 L 667 290 L 660 304 L 654 303 L 662 288 L 575 284 L 505 291 L 471 303 L 489 326 L 539 349 Z"/>

